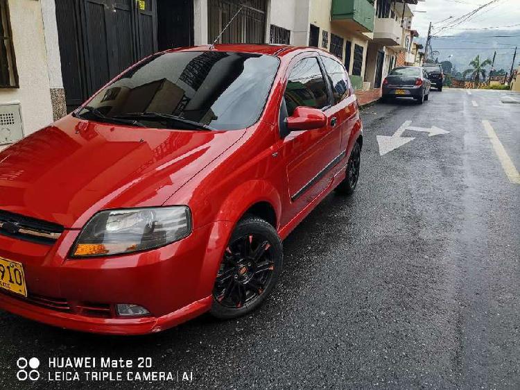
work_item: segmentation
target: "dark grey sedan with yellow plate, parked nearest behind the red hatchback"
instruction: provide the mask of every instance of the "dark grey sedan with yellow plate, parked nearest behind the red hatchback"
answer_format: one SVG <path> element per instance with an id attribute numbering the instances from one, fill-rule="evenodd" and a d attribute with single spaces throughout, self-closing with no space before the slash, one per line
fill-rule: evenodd
<path id="1" fill-rule="evenodd" d="M 383 80 L 383 100 L 396 97 L 413 97 L 419 104 L 428 100 L 431 82 L 421 67 L 392 69 Z"/>

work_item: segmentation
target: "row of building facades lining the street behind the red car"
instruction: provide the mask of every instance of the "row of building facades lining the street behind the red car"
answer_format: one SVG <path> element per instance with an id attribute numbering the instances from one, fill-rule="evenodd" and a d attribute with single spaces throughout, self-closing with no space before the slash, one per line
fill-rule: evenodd
<path id="1" fill-rule="evenodd" d="M 0 145 L 63 117 L 150 53 L 215 40 L 316 46 L 342 60 L 356 89 L 377 88 L 397 55 L 413 52 L 408 3 L 417 0 L 0 0 L 10 37 L 0 123 L 14 118 Z"/>

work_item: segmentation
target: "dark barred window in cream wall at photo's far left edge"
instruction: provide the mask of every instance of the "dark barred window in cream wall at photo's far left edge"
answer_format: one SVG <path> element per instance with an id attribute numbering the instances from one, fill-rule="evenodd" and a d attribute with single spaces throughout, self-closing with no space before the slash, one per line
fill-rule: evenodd
<path id="1" fill-rule="evenodd" d="M 0 0 L 0 88 L 17 88 L 15 49 L 7 0 Z"/>

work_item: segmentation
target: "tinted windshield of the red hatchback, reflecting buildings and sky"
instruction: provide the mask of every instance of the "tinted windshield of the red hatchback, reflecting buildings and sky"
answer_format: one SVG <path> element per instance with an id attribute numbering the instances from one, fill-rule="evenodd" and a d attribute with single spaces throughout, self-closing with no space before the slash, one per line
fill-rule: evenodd
<path id="1" fill-rule="evenodd" d="M 126 71 L 78 116 L 153 128 L 246 128 L 258 121 L 278 65 L 254 53 L 161 53 Z"/>

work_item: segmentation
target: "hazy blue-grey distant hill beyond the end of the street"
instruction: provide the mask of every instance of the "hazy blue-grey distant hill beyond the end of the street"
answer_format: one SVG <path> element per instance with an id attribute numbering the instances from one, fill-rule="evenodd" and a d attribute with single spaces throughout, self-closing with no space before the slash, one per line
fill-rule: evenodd
<path id="1" fill-rule="evenodd" d="M 514 47 L 505 49 L 510 46 L 518 46 L 517 60 L 515 67 L 520 64 L 520 29 L 517 30 L 478 30 L 464 31 L 462 33 L 445 32 L 444 35 L 449 37 L 438 37 L 432 39 L 432 49 L 439 51 L 437 57 L 439 62 L 449 60 L 454 65 L 456 71 L 464 71 L 469 67 L 469 62 L 477 55 L 482 60 L 486 58 L 492 59 L 496 48 L 496 59 L 494 69 L 505 69 L 510 71 L 513 59 Z M 508 36 L 504 36 L 508 35 Z M 418 39 L 419 43 L 426 42 L 425 37 Z M 463 49 L 462 49 L 463 48 Z M 449 58 L 449 56 L 452 56 Z"/>

